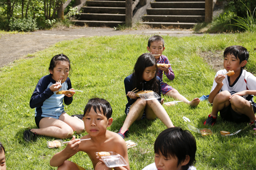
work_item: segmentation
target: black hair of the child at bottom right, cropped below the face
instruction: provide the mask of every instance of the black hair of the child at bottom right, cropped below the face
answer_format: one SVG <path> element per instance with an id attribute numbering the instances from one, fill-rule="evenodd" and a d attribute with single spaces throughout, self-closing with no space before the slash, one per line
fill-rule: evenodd
<path id="1" fill-rule="evenodd" d="M 154 153 L 162 153 L 163 156 L 168 158 L 177 157 L 178 165 L 181 161 L 190 157 L 189 163 L 184 165 L 183 170 L 187 170 L 189 166 L 195 163 L 196 142 L 194 136 L 188 130 L 182 130 L 180 127 L 171 127 L 163 130 L 157 136 L 154 143 Z"/>

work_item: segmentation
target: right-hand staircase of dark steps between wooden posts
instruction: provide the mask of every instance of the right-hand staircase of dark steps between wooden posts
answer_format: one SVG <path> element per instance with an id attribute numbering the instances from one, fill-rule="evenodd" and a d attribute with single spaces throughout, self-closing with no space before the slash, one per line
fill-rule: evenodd
<path id="1" fill-rule="evenodd" d="M 143 24 L 159 28 L 192 28 L 204 21 L 204 15 L 205 0 L 155 0 L 143 16 Z"/>

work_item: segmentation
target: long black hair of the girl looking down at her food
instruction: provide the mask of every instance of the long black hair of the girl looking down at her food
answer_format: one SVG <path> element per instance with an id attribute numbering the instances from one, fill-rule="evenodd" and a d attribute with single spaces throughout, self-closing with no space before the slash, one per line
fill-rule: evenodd
<path id="1" fill-rule="evenodd" d="M 142 54 L 138 59 L 137 62 L 134 65 L 134 71 L 132 74 L 132 78 L 133 78 L 133 85 L 134 88 L 137 88 L 138 90 L 142 90 L 143 89 L 143 72 L 145 70 L 145 68 L 147 67 L 151 67 L 151 66 L 155 66 L 156 68 L 156 72 L 155 72 L 155 76 L 153 79 L 151 79 L 150 81 L 147 82 L 147 88 L 148 89 L 144 89 L 144 90 L 152 90 L 156 93 L 158 93 L 158 84 L 157 84 L 157 61 L 154 58 L 154 56 L 152 56 L 149 53 L 145 53 Z"/>

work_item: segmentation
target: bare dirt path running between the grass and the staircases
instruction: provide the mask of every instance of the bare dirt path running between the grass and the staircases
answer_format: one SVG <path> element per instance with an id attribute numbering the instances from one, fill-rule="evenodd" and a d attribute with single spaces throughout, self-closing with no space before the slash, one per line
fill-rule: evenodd
<path id="1" fill-rule="evenodd" d="M 184 37 L 191 35 L 201 36 L 203 34 L 193 34 L 193 31 L 179 31 L 168 29 L 147 29 L 131 31 L 115 31 L 113 28 L 81 27 L 63 30 L 35 31 L 28 34 L 1 35 L 0 38 L 0 67 L 13 62 L 15 59 L 43 50 L 56 42 L 63 40 L 73 40 L 90 36 L 113 36 L 124 34 L 159 34 L 174 37 Z"/>

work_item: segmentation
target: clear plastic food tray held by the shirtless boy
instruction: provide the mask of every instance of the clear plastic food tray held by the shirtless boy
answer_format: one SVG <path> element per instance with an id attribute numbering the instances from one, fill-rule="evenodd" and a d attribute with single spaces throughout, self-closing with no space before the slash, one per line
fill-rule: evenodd
<path id="1" fill-rule="evenodd" d="M 97 154 L 98 152 L 96 152 Z M 110 156 L 102 156 L 101 159 L 104 161 L 107 167 L 123 167 L 128 165 L 125 159 L 115 152 L 108 152 Z"/>

